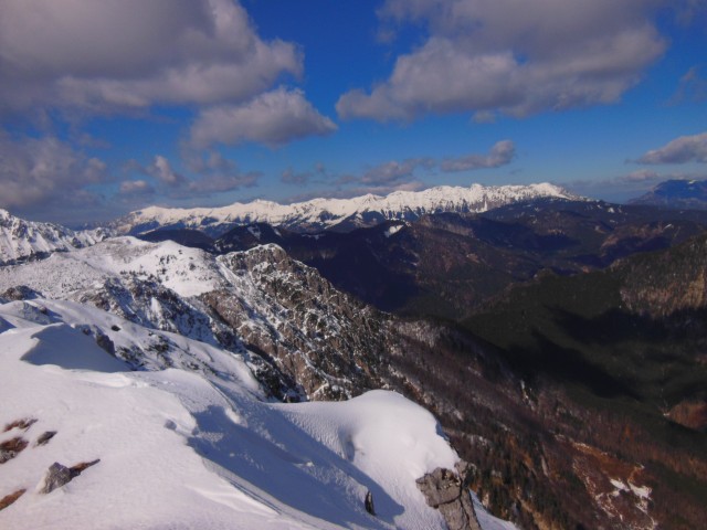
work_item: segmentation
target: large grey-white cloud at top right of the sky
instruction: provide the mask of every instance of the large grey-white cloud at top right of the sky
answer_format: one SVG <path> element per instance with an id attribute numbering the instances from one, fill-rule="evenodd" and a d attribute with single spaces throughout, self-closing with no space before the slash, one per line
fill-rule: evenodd
<path id="1" fill-rule="evenodd" d="M 514 116 L 609 104 L 635 85 L 666 41 L 644 0 L 388 0 L 383 23 L 425 24 L 428 40 L 390 77 L 337 103 L 342 118 L 428 113 Z"/>

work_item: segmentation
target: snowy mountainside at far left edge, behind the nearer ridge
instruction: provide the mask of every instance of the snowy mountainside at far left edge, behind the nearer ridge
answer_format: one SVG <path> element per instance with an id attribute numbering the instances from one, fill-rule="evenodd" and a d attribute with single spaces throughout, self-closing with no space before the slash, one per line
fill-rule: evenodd
<path id="1" fill-rule="evenodd" d="M 75 232 L 54 223 L 25 221 L 0 210 L 0 265 L 32 259 L 55 251 L 91 246 L 105 240 L 105 229 Z"/>

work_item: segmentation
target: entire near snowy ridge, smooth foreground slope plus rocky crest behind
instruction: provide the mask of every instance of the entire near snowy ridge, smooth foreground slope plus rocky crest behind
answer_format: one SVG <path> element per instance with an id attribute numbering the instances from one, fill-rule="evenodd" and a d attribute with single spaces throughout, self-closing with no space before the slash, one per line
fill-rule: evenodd
<path id="1" fill-rule="evenodd" d="M 415 484 L 458 463 L 429 412 L 273 398 L 246 341 L 340 399 L 373 365 L 350 333 L 380 324 L 275 245 L 117 237 L 0 273 L 1 528 L 446 528 Z"/>

